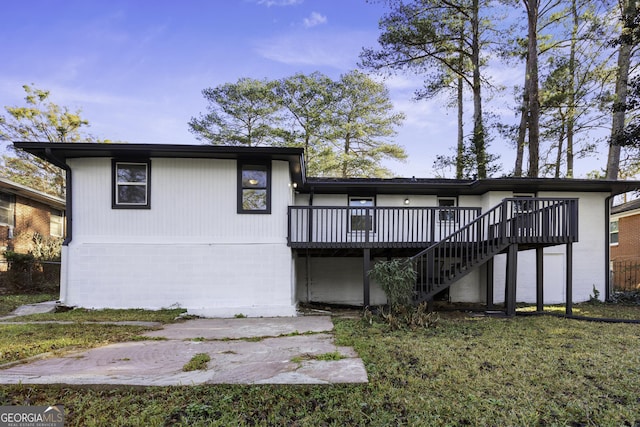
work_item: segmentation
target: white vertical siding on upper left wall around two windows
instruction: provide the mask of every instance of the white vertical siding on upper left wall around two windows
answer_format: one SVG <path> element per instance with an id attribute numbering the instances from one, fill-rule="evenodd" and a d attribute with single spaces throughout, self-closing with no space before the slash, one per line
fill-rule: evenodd
<path id="1" fill-rule="evenodd" d="M 111 209 L 111 160 L 69 161 L 77 242 L 286 243 L 286 162 L 273 162 L 271 215 L 238 215 L 233 160 L 152 159 L 151 209 Z"/>

